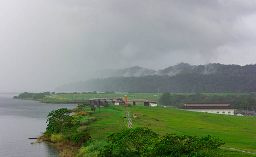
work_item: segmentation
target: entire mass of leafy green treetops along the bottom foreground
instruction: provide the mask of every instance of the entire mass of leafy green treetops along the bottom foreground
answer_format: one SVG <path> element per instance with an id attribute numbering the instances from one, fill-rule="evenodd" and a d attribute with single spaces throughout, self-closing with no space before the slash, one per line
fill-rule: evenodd
<path id="1" fill-rule="evenodd" d="M 146 127 L 123 129 L 106 138 L 98 156 L 220 156 L 216 137 L 160 136 Z"/>

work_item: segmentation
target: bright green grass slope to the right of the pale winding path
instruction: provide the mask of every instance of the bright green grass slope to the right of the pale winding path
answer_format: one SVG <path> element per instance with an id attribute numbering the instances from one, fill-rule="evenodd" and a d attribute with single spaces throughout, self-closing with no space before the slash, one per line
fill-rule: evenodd
<path id="1" fill-rule="evenodd" d="M 139 119 L 133 126 L 146 126 L 157 133 L 185 133 L 194 136 L 219 136 L 225 147 L 256 152 L 256 117 L 240 117 L 199 113 L 177 109 L 132 106 L 129 108 Z M 145 116 L 143 116 L 145 115 Z M 156 121 L 154 119 L 158 119 Z"/>

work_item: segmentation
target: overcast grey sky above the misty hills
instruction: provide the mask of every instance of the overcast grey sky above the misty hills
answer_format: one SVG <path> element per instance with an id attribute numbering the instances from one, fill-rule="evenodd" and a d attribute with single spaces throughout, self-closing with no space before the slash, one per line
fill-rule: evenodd
<path id="1" fill-rule="evenodd" d="M 255 64 L 256 1 L 0 1 L 0 92 L 100 69 Z"/>

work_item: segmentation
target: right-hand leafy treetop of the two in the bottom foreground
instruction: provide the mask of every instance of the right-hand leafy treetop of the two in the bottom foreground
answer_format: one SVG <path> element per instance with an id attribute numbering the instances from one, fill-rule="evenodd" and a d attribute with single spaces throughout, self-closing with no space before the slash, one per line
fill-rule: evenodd
<path id="1" fill-rule="evenodd" d="M 220 156 L 219 147 L 225 144 L 216 137 L 159 136 L 151 146 L 152 156 Z"/>

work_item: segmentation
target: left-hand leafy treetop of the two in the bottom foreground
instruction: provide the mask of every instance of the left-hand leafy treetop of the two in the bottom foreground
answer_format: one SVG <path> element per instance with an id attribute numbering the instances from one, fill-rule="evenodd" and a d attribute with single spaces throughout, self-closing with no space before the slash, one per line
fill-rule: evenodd
<path id="1" fill-rule="evenodd" d="M 158 135 L 146 127 L 122 129 L 111 133 L 107 138 L 104 149 L 98 156 L 142 156 L 148 154 L 152 139 Z"/>

